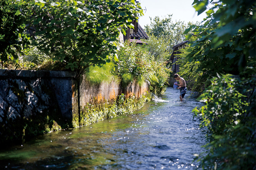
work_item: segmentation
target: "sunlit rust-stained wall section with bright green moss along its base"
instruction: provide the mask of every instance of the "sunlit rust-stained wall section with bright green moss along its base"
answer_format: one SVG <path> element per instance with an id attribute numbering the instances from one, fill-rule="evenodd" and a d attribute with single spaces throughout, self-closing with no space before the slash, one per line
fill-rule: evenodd
<path id="1" fill-rule="evenodd" d="M 79 124 L 75 127 L 132 112 L 150 100 L 148 84 L 139 86 L 136 80 L 126 87 L 115 81 L 95 86 L 81 77 L 79 94 L 79 113 L 73 117 L 73 122 L 79 119 Z"/>

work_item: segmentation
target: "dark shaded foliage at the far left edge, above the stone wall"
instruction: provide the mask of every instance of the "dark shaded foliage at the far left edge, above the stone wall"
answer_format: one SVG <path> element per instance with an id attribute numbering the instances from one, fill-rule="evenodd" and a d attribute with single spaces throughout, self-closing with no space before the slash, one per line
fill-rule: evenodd
<path id="1" fill-rule="evenodd" d="M 0 60 L 18 60 L 30 44 L 26 34 L 26 16 L 20 12 L 18 2 L 0 0 Z"/>

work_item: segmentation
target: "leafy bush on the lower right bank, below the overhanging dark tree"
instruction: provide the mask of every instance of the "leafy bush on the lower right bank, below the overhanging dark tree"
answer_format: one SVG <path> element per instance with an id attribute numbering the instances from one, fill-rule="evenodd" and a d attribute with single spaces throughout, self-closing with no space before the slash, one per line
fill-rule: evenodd
<path id="1" fill-rule="evenodd" d="M 193 111 L 202 118 L 201 126 L 212 132 L 206 145 L 210 152 L 202 158 L 203 168 L 213 168 L 217 163 L 219 169 L 255 169 L 254 87 L 255 77 L 247 82 L 238 76 L 219 75 L 199 97 L 206 105 Z"/>

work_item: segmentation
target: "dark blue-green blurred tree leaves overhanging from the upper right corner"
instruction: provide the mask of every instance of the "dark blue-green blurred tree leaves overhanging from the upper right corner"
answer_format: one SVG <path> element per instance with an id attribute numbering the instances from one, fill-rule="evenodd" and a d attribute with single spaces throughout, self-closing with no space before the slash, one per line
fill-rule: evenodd
<path id="1" fill-rule="evenodd" d="M 190 61 L 200 61 L 200 69 L 210 75 L 230 73 L 251 76 L 255 73 L 255 2 L 221 2 L 215 3 L 206 12 L 208 17 L 203 25 L 191 25 L 185 31 L 188 33 L 193 29 L 195 34 L 200 35 L 197 41 L 191 43 L 193 48 L 188 57 Z M 196 0 L 194 3 L 199 12 L 208 5 L 208 1 Z"/>

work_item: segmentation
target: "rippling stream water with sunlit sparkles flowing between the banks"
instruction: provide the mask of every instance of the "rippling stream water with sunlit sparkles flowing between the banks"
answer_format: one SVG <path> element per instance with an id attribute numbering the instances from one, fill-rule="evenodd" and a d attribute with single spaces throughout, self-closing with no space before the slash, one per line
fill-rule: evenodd
<path id="1" fill-rule="evenodd" d="M 0 151 L 0 169 L 197 169 L 206 129 L 193 118 L 202 106 L 168 88 L 133 114 L 37 137 Z"/>

